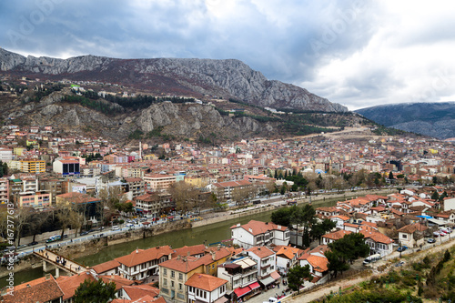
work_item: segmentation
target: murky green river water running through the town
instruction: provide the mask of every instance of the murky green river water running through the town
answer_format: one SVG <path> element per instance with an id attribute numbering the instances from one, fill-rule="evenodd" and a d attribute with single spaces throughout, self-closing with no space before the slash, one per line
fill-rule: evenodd
<path id="1" fill-rule="evenodd" d="M 334 206 L 338 199 L 328 199 L 325 201 L 316 201 L 313 203 L 317 207 L 329 207 Z M 255 219 L 258 221 L 270 221 L 272 211 L 256 214 L 252 216 L 231 219 L 222 221 L 216 224 L 211 224 L 205 227 L 196 227 L 183 230 L 177 230 L 161 234 L 153 237 L 147 237 L 138 239 L 130 242 L 120 243 L 113 246 L 104 247 L 99 252 L 82 258 L 76 258 L 75 260 L 85 266 L 94 266 L 99 263 L 103 263 L 114 258 L 122 257 L 130 254 L 133 250 L 138 248 L 149 248 L 170 245 L 171 247 L 184 247 L 197 244 L 214 244 L 224 239 L 231 238 L 230 229 L 233 225 L 240 223 L 245 224 L 249 220 Z M 5 267 L 0 270 L 6 270 Z M 50 271 L 51 274 L 55 274 L 54 270 Z M 23 282 L 31 281 L 35 278 L 41 278 L 45 275 L 43 268 L 29 268 L 21 270 L 15 273 L 15 285 Z M 0 278 L 0 288 L 7 285 L 6 278 Z"/>

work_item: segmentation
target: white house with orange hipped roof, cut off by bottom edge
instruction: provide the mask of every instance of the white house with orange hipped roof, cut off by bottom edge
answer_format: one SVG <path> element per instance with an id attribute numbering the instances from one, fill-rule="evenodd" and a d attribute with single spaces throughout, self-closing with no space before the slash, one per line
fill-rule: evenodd
<path id="1" fill-rule="evenodd" d="M 188 303 L 226 303 L 227 280 L 206 274 L 195 274 L 188 278 L 185 286 L 188 289 Z"/>

